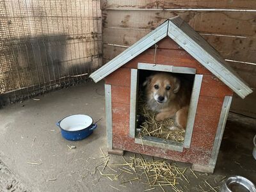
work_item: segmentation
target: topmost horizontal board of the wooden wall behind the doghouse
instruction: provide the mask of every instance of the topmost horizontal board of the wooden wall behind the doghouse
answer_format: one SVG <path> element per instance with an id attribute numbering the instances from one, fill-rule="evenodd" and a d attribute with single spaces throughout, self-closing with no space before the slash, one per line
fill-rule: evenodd
<path id="1" fill-rule="evenodd" d="M 254 0 L 104 0 L 102 1 L 102 9 L 152 9 L 152 8 L 228 8 L 228 9 L 252 9 L 256 8 Z"/>

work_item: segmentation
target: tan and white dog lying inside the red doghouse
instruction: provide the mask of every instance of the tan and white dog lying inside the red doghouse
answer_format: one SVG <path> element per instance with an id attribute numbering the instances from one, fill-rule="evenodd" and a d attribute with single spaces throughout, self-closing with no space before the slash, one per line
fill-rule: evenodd
<path id="1" fill-rule="evenodd" d="M 160 72 L 147 77 L 143 83 L 146 86 L 147 104 L 156 111 L 156 120 L 175 118 L 175 124 L 169 129 L 186 129 L 191 89 L 189 82 L 172 76 L 168 72 Z"/>

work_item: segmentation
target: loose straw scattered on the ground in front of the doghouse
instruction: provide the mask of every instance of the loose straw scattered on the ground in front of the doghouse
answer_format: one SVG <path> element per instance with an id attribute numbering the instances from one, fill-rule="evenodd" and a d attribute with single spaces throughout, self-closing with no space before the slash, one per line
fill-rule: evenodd
<path id="1" fill-rule="evenodd" d="M 123 163 L 115 164 L 102 152 L 104 161 L 95 167 L 101 177 L 106 177 L 113 184 L 109 185 L 113 191 L 122 191 L 134 183 L 145 185 L 144 191 L 189 191 L 187 186 L 195 180 L 199 181 L 198 188 L 192 187 L 194 191 L 215 191 L 220 187 L 211 185 L 200 174 L 196 174 L 189 167 L 179 167 L 176 163 L 168 160 L 147 159 L 140 154 L 126 158 L 122 156 Z M 95 171 L 96 172 L 96 171 Z M 215 180 L 215 179 L 214 179 Z M 115 190 L 114 190 L 115 189 Z"/>

